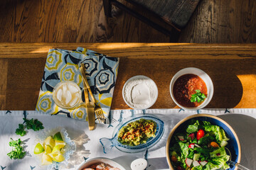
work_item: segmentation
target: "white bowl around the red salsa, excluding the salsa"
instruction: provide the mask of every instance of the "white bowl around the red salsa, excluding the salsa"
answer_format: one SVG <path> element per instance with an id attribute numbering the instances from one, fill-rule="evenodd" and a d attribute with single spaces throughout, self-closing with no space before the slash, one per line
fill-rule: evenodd
<path id="1" fill-rule="evenodd" d="M 174 98 L 174 83 L 175 81 L 178 79 L 178 77 L 181 77 L 184 74 L 196 74 L 198 77 L 201 77 L 201 79 L 203 79 L 203 81 L 206 83 L 206 87 L 207 87 L 207 98 L 203 101 L 203 103 L 201 103 L 201 105 L 199 105 L 198 107 L 195 108 L 188 108 L 185 106 L 181 106 L 181 104 L 178 103 L 178 101 L 176 101 L 176 99 Z M 198 110 L 200 108 L 204 108 L 208 105 L 208 103 L 210 103 L 210 100 L 213 98 L 213 81 L 210 79 L 210 77 L 208 76 L 208 74 L 206 74 L 206 72 L 203 72 L 203 70 L 201 69 L 197 69 L 195 67 L 188 67 L 185 69 L 181 69 L 180 71 L 178 71 L 174 77 L 171 79 L 171 84 L 170 84 L 170 93 L 171 93 L 171 98 L 173 99 L 174 103 L 176 103 L 177 106 L 179 106 L 180 108 L 186 109 L 186 110 Z"/>

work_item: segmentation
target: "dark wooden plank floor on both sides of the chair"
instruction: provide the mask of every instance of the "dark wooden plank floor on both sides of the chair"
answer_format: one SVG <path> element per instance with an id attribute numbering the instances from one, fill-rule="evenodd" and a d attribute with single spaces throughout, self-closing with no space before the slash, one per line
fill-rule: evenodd
<path id="1" fill-rule="evenodd" d="M 102 0 L 1 0 L 0 42 L 169 42 Z M 178 42 L 256 42 L 256 1 L 201 0 Z"/>

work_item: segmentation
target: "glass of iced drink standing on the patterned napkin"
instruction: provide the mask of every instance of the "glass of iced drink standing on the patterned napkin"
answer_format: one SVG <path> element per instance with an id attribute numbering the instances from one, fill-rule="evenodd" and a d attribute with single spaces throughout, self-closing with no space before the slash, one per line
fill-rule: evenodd
<path id="1" fill-rule="evenodd" d="M 82 100 L 82 91 L 73 81 L 60 81 L 53 89 L 53 101 L 60 108 L 75 108 Z"/>

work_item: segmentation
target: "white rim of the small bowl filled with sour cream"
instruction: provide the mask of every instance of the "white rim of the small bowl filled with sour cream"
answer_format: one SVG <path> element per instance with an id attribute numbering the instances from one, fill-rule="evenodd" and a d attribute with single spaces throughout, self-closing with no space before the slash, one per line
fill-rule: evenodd
<path id="1" fill-rule="evenodd" d="M 153 101 L 152 101 L 149 105 L 147 105 L 147 106 L 145 106 L 145 107 L 142 107 L 142 108 L 138 108 L 138 107 L 132 106 L 132 105 L 127 101 L 127 99 L 126 99 L 125 96 L 124 96 L 125 87 L 127 86 L 127 84 L 128 84 L 130 81 L 133 81 L 133 80 L 135 80 L 135 79 L 149 79 L 149 80 L 154 84 L 154 91 L 156 91 L 156 96 L 153 98 Z M 143 109 L 146 109 L 146 108 L 150 108 L 151 106 L 154 105 L 154 103 L 156 103 L 156 99 L 157 99 L 157 97 L 158 97 L 158 89 L 157 89 L 156 83 L 155 83 L 152 79 L 150 79 L 149 77 L 143 76 L 143 75 L 138 75 L 138 76 L 134 76 L 134 77 L 129 78 L 129 79 L 125 82 L 125 84 L 124 84 L 124 86 L 123 86 L 123 89 L 122 89 L 122 97 L 123 97 L 123 99 L 124 99 L 124 102 L 127 103 L 127 105 L 128 105 L 130 108 L 143 110 Z"/>

